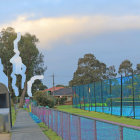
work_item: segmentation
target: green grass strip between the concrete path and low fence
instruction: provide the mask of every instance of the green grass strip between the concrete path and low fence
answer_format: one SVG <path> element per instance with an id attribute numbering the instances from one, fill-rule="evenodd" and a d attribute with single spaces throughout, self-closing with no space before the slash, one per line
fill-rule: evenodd
<path id="1" fill-rule="evenodd" d="M 49 129 L 44 123 L 38 124 L 41 128 L 41 130 L 44 132 L 44 134 L 50 139 L 50 140 L 62 140 L 60 136 L 58 136 L 54 131 Z"/>

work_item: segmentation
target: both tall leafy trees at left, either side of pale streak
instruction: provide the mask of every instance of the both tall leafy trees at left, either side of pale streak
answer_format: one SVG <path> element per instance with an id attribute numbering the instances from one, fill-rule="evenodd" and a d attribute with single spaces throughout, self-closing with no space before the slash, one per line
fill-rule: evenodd
<path id="1" fill-rule="evenodd" d="M 4 65 L 4 72 L 8 76 L 8 87 L 10 93 L 14 96 L 14 91 L 12 89 L 12 64 L 10 63 L 10 59 L 14 56 L 14 45 L 13 41 L 16 39 L 17 34 L 15 30 L 11 27 L 3 29 L 0 32 L 0 57 L 2 60 L 2 64 Z M 27 81 L 34 75 L 44 74 L 46 67 L 44 66 L 43 58 L 44 56 L 36 47 L 36 43 L 39 40 L 36 38 L 35 35 L 31 35 L 26 33 L 25 35 L 21 36 L 21 40 L 19 41 L 18 48 L 20 51 L 20 56 L 22 58 L 22 62 L 26 65 L 26 81 L 24 83 L 24 89 L 21 89 L 21 75 L 16 75 L 17 81 L 16 85 L 19 88 L 20 92 L 20 107 L 23 106 L 24 97 L 27 91 Z"/>

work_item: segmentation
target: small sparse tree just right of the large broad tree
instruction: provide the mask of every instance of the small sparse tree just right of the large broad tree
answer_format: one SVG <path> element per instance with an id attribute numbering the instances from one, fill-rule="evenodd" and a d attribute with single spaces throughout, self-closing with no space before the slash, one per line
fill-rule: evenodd
<path id="1" fill-rule="evenodd" d="M 115 66 L 110 66 L 106 70 L 106 76 L 108 79 L 113 79 L 117 76 Z"/>

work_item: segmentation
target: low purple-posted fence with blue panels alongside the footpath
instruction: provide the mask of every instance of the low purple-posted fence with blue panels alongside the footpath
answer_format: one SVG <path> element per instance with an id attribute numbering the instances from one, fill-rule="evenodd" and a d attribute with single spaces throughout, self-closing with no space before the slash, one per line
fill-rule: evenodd
<path id="1" fill-rule="evenodd" d="M 140 127 L 70 114 L 32 105 L 37 115 L 63 140 L 139 140 Z"/>

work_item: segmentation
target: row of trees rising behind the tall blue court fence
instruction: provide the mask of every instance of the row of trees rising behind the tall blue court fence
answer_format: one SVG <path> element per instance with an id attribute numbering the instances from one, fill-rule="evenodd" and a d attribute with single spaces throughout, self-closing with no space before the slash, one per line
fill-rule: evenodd
<path id="1" fill-rule="evenodd" d="M 94 54 L 85 54 L 83 58 L 79 58 L 77 70 L 73 74 L 73 79 L 69 82 L 70 86 L 89 84 L 105 79 L 116 78 L 117 74 L 128 76 L 140 73 L 140 64 L 137 64 L 136 69 L 132 68 L 132 63 L 129 60 L 124 60 L 118 71 L 115 66 L 109 66 L 99 61 Z"/>

